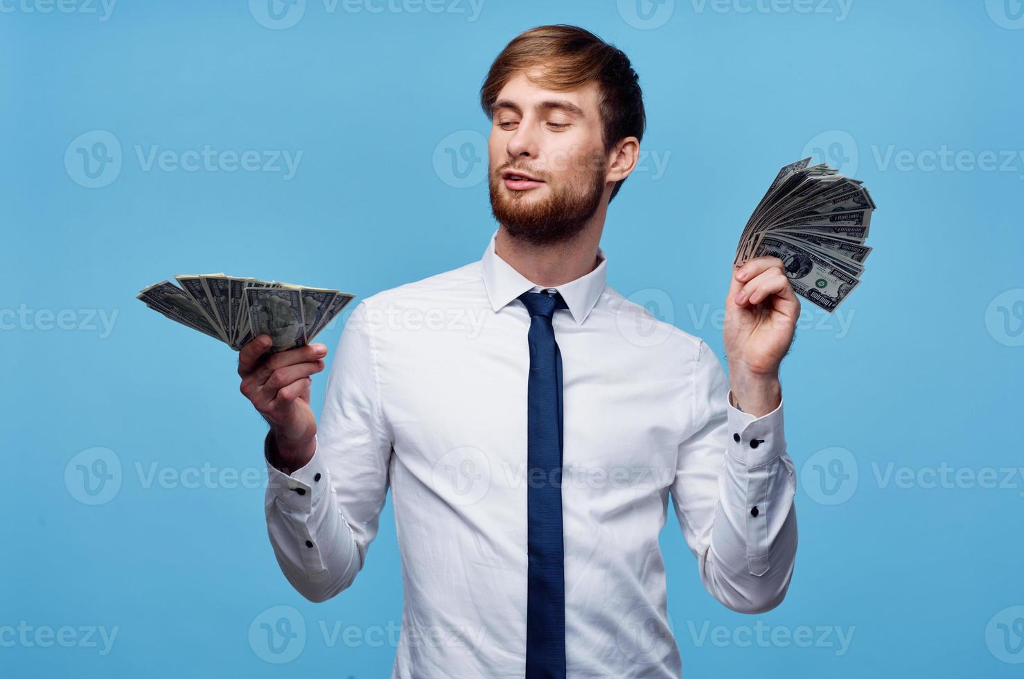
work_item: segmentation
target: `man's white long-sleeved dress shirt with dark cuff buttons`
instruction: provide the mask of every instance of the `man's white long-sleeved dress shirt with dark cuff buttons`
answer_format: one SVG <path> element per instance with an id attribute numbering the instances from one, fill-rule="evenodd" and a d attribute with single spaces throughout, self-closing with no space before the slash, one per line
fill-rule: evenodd
<path id="1" fill-rule="evenodd" d="M 352 584 L 391 487 L 404 590 L 392 678 L 525 668 L 526 494 L 559 479 L 525 469 L 529 315 L 516 298 L 542 288 L 496 255 L 495 235 L 482 259 L 356 305 L 312 459 L 269 466 L 270 543 L 311 601 Z M 568 677 L 678 678 L 658 547 L 670 495 L 703 587 L 761 612 L 793 575 L 794 464 L 782 406 L 733 408 L 709 346 L 625 299 L 598 258 L 555 288 L 568 308 L 552 320 Z"/>

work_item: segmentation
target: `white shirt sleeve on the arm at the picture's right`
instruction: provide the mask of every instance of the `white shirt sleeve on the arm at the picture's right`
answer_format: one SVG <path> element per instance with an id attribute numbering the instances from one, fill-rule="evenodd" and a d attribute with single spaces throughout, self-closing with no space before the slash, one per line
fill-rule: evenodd
<path id="1" fill-rule="evenodd" d="M 718 357 L 700 342 L 692 429 L 679 445 L 672 499 L 705 589 L 728 608 L 781 603 L 797 554 L 796 474 L 782 404 L 754 417 L 732 406 Z"/>

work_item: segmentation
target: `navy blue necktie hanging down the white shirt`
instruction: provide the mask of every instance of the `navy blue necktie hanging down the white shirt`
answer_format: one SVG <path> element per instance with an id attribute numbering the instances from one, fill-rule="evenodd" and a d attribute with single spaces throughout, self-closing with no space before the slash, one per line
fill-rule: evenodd
<path id="1" fill-rule="evenodd" d="M 551 316 L 556 292 L 524 292 L 529 311 L 526 445 L 526 679 L 565 678 L 562 558 L 562 354 Z"/>

